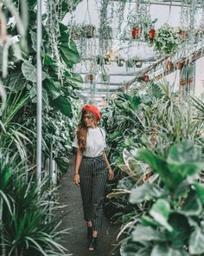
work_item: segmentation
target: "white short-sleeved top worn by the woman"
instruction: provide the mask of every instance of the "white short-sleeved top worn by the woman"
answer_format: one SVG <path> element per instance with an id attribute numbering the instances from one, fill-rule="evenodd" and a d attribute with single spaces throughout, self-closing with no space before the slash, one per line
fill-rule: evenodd
<path id="1" fill-rule="evenodd" d="M 74 148 L 80 148 L 75 135 L 72 146 Z M 89 157 L 97 157 L 103 154 L 106 148 L 105 143 L 105 130 L 102 128 L 88 128 L 87 138 L 86 138 L 86 150 L 83 155 Z"/>

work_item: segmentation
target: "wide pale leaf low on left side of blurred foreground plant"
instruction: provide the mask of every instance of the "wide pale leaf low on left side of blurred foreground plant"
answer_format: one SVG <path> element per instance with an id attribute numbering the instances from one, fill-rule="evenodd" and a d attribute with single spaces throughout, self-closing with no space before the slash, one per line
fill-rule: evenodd
<path id="1" fill-rule="evenodd" d="M 165 240 L 165 237 L 163 233 L 159 233 L 151 226 L 137 225 L 131 233 L 131 239 L 135 242 L 163 241 Z"/>

